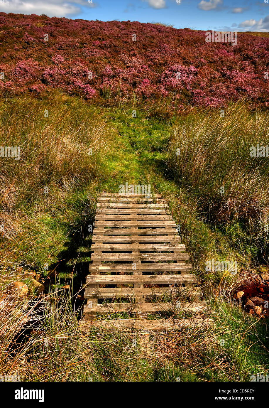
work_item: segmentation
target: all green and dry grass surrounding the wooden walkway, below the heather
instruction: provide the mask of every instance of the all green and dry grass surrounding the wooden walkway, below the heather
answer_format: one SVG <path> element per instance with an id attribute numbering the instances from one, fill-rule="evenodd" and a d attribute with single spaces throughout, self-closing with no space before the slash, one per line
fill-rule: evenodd
<path id="1" fill-rule="evenodd" d="M 268 263 L 268 240 L 262 233 L 268 215 L 268 159 L 253 164 L 242 147 L 266 143 L 268 114 L 237 104 L 227 108 L 225 118 L 214 110 L 176 116 L 164 101 L 159 106 L 134 100 L 132 106 L 95 107 L 56 93 L 49 100 L 7 100 L 1 107 L 1 144 L 21 145 L 22 157 L 4 159 L 0 170 L 1 274 L 8 275 L 0 280 L 0 294 L 6 299 L 12 278 L 22 280 L 16 272 L 20 265 L 23 272 L 36 271 L 49 282 L 44 327 L 29 334 L 15 358 L 7 350 L 20 321 L 12 325 L 7 310 L 0 311 L 7 322 L 0 326 L 0 366 L 7 374 L 21 373 L 31 381 L 249 381 L 252 374 L 268 374 L 267 325 L 249 319 L 234 304 L 223 273 L 205 271 L 205 261 L 212 258 L 237 260 L 238 269 Z M 49 118 L 43 117 L 45 109 Z M 132 118 L 134 109 L 137 118 Z M 92 157 L 86 153 L 91 146 Z M 176 147 L 182 149 L 180 157 Z M 216 326 L 152 334 L 148 358 L 137 332 L 93 329 L 82 335 L 77 328 L 96 197 L 103 190 L 118 192 L 125 182 L 150 184 L 164 195 L 202 287 L 218 288 L 216 296 L 205 296 L 210 308 L 201 314 L 213 317 Z M 220 185 L 234 199 L 238 216 L 234 211 L 227 218 L 224 210 L 216 216 L 211 205 L 223 203 Z M 249 200 L 247 215 L 238 211 L 237 197 Z M 253 208 L 260 210 L 255 216 Z M 55 268 L 56 276 L 51 275 Z M 225 279 L 232 285 L 237 276 Z M 51 339 L 47 348 L 44 339 Z"/>

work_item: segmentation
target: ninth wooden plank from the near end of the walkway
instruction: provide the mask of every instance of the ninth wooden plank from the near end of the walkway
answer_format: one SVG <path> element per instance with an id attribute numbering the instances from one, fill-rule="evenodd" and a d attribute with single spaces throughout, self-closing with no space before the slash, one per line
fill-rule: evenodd
<path id="1" fill-rule="evenodd" d="M 170 235 L 177 233 L 176 228 L 161 225 L 159 228 L 97 228 L 93 230 L 95 235 Z"/>

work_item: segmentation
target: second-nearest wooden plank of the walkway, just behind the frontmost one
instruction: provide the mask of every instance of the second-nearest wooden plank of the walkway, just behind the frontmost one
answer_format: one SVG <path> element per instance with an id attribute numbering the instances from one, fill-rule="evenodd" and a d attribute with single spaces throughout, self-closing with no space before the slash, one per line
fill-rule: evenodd
<path id="1" fill-rule="evenodd" d="M 187 311 L 197 313 L 206 310 L 205 302 L 180 302 L 180 304 L 173 304 L 172 302 L 145 302 L 145 303 L 104 303 L 94 304 L 91 312 L 104 315 L 106 313 L 156 313 L 161 311 Z M 84 308 L 84 313 L 88 313 L 89 309 Z"/>

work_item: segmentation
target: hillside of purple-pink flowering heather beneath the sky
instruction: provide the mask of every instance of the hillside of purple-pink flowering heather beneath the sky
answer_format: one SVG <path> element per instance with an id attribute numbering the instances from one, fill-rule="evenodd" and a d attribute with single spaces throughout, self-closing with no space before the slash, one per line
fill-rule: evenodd
<path id="1" fill-rule="evenodd" d="M 267 37 L 238 33 L 232 46 L 206 43 L 205 31 L 150 23 L 0 13 L 0 42 L 3 96 L 57 88 L 85 99 L 110 90 L 140 98 L 172 94 L 198 106 L 242 97 L 269 102 Z"/>

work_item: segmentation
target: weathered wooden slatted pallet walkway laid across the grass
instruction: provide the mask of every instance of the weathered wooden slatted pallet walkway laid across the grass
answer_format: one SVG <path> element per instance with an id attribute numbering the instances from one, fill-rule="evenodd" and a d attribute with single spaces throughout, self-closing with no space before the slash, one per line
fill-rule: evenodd
<path id="1" fill-rule="evenodd" d="M 211 324 L 210 319 L 197 316 L 206 309 L 201 301 L 203 294 L 196 286 L 189 255 L 161 195 L 149 198 L 101 193 L 92 242 L 83 330 L 93 326 L 178 330 Z M 176 302 L 179 297 L 180 303 Z M 163 301 L 165 298 L 169 301 Z M 147 318 L 179 310 L 191 313 L 191 317 Z M 122 312 L 130 317 L 113 316 Z M 103 315 L 106 320 L 98 318 Z"/>

